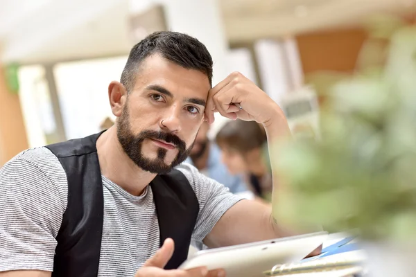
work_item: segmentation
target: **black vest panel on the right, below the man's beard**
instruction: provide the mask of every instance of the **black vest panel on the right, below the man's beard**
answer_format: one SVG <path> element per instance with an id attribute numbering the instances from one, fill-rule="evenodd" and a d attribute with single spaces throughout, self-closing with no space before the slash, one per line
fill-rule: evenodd
<path id="1" fill-rule="evenodd" d="M 199 213 L 199 203 L 187 177 L 173 169 L 150 183 L 159 220 L 161 245 L 166 238 L 175 242 L 175 251 L 165 269 L 176 269 L 188 257 L 191 236 Z"/>

